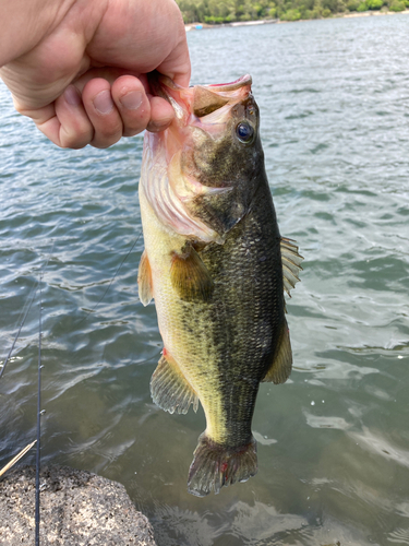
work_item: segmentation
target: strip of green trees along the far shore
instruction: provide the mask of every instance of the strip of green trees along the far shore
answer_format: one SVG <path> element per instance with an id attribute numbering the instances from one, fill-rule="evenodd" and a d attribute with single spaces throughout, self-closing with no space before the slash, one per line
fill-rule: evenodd
<path id="1" fill-rule="evenodd" d="M 370 10 L 404 11 L 409 0 L 177 0 L 185 24 L 329 17 Z"/>

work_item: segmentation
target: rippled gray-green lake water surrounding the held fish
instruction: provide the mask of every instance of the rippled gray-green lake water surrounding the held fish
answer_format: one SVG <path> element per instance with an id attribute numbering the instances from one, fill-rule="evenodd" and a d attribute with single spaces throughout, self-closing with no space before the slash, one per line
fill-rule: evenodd
<path id="1" fill-rule="evenodd" d="M 43 460 L 124 484 L 159 546 L 408 545 L 409 16 L 188 37 L 193 83 L 253 75 L 281 234 L 305 257 L 292 375 L 257 399 L 258 474 L 190 496 L 203 412 L 151 400 L 161 341 L 137 298 L 142 136 L 58 150 L 1 85 L 0 358 L 48 260 Z M 0 381 L 0 466 L 35 438 L 37 302 Z"/>

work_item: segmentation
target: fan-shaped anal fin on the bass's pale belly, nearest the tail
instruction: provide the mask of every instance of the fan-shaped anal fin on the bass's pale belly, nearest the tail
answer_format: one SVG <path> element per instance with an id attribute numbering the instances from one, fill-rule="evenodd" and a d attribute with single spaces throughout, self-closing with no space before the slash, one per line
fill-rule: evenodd
<path id="1" fill-rule="evenodd" d="M 191 404 L 193 404 L 194 412 L 199 407 L 196 393 L 166 349 L 152 376 L 151 394 L 155 404 L 165 412 L 185 414 Z"/>

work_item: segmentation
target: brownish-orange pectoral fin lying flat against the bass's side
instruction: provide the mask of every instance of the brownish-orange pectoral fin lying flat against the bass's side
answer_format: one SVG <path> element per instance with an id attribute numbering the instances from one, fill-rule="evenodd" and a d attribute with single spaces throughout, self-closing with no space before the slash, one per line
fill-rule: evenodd
<path id="1" fill-rule="evenodd" d="M 213 294 L 210 274 L 190 242 L 184 245 L 181 254 L 173 252 L 170 281 L 185 301 L 207 300 Z"/>

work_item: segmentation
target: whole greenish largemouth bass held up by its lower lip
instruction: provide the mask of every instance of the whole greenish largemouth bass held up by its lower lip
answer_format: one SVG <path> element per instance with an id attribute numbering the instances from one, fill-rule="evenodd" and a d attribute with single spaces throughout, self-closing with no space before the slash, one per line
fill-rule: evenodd
<path id="1" fill-rule="evenodd" d="M 257 472 L 251 430 L 260 382 L 282 383 L 292 356 L 284 289 L 302 257 L 280 236 L 251 78 L 182 88 L 159 76 L 172 124 L 145 133 L 140 203 L 143 305 L 155 299 L 164 352 L 154 402 L 206 416 L 188 488 L 205 496 Z"/>

